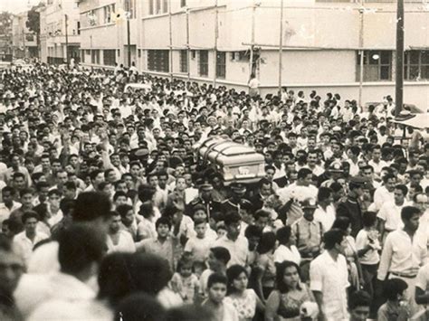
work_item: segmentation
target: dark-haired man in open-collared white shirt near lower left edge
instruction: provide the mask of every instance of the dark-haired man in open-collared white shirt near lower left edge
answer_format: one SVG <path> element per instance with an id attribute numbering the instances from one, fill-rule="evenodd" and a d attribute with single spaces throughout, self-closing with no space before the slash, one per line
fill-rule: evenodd
<path id="1" fill-rule="evenodd" d="M 37 212 L 24 212 L 22 221 L 24 224 L 24 231 L 14 236 L 14 244 L 22 250 L 24 260 L 28 262 L 33 254 L 34 245 L 47 239 L 48 236 L 37 231 L 37 222 L 39 222 L 39 215 Z"/>

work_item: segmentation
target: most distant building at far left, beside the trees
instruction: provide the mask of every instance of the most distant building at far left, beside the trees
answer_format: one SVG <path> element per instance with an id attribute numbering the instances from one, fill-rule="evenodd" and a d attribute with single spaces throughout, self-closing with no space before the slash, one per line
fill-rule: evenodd
<path id="1" fill-rule="evenodd" d="M 27 12 L 14 14 L 12 19 L 12 47 L 14 58 L 38 56 L 37 37 L 27 26 Z"/>

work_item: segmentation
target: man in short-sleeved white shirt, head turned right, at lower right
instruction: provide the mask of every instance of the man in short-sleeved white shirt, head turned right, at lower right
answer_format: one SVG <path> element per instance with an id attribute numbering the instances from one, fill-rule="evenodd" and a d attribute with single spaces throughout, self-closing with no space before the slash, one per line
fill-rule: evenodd
<path id="1" fill-rule="evenodd" d="M 310 289 L 319 305 L 319 319 L 348 320 L 348 267 L 344 253 L 347 246 L 343 231 L 327 231 L 325 251 L 310 263 Z"/>

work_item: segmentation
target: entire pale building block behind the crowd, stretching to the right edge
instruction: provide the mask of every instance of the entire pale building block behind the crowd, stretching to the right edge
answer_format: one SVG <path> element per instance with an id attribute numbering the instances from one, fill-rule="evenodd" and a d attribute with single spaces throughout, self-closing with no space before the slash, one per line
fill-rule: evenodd
<path id="1" fill-rule="evenodd" d="M 283 86 L 362 103 L 395 94 L 396 0 L 131 3 L 131 61 L 139 71 L 243 90 L 254 72 L 263 95 Z M 109 17 L 127 11 L 128 1 L 79 5 L 82 61 L 127 64 L 127 24 Z M 405 0 L 404 100 L 421 108 L 429 105 L 428 19 L 426 0 Z"/>

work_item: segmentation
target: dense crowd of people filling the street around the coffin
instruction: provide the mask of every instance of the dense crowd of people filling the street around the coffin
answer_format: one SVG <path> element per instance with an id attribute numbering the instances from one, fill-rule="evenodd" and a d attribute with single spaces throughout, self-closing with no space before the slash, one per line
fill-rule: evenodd
<path id="1" fill-rule="evenodd" d="M 427 320 L 429 144 L 389 96 L 0 78 L 0 320 Z M 210 137 L 265 177 L 225 184 Z"/>

